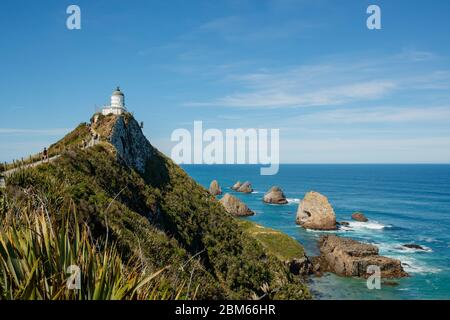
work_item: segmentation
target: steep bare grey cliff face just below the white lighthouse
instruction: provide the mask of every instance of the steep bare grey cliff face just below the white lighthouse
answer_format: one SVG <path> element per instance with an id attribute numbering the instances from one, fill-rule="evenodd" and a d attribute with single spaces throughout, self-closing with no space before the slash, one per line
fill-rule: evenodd
<path id="1" fill-rule="evenodd" d="M 109 140 L 116 148 L 119 160 L 141 174 L 145 173 L 146 163 L 152 158 L 155 149 L 133 117 L 117 117 Z"/>

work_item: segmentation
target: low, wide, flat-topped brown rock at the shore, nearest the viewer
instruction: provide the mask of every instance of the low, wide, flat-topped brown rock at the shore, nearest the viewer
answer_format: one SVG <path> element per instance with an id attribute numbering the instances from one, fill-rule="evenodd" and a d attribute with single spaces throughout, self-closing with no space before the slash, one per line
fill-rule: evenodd
<path id="1" fill-rule="evenodd" d="M 322 271 L 340 276 L 368 278 L 369 266 L 378 266 L 382 278 L 402 278 L 408 274 L 400 260 L 383 257 L 378 248 L 349 238 L 335 235 L 323 236 L 319 241 Z"/>

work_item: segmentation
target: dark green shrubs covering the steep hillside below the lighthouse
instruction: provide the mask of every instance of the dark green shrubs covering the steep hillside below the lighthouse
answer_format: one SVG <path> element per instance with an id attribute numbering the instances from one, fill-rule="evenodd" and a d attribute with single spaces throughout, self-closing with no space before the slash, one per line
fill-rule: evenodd
<path id="1" fill-rule="evenodd" d="M 107 139 L 111 124 L 111 117 L 100 118 L 95 130 Z M 80 125 L 56 145 L 76 144 L 85 128 Z M 207 190 L 156 149 L 144 174 L 121 164 L 107 142 L 68 149 L 51 163 L 13 174 L 4 197 L 21 203 L 30 190 L 43 195 L 52 220 L 62 226 L 63 213 L 75 212 L 102 254 L 114 243 L 126 265 L 138 260 L 147 275 L 165 268 L 157 297 L 310 298 L 276 250 L 267 250 L 264 243 L 270 241 L 245 232 Z"/>

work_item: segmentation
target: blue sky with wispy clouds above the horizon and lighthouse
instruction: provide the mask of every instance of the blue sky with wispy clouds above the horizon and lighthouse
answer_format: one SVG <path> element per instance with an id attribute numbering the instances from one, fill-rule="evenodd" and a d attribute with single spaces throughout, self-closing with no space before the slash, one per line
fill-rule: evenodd
<path id="1" fill-rule="evenodd" d="M 369 4 L 382 30 L 366 28 Z M 449 15 L 444 0 L 4 0 L 0 161 L 88 121 L 120 85 L 169 155 L 172 131 L 202 120 L 279 128 L 286 163 L 449 163 Z"/>

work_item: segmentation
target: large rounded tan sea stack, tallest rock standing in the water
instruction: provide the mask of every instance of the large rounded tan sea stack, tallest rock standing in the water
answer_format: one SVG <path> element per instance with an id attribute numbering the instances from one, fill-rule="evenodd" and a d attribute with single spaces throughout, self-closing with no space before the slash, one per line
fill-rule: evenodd
<path id="1" fill-rule="evenodd" d="M 336 215 L 327 197 L 314 191 L 299 204 L 296 222 L 305 229 L 336 230 Z"/>

